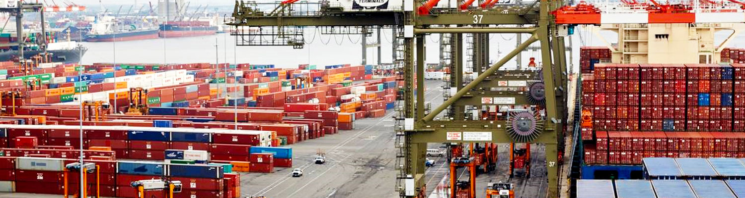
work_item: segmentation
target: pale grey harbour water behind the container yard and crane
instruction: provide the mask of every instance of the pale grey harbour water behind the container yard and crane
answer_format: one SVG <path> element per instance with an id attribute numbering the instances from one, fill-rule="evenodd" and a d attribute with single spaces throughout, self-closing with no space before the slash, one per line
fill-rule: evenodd
<path id="1" fill-rule="evenodd" d="M 194 62 L 230 62 L 250 63 L 256 65 L 273 64 L 277 67 L 297 67 L 299 64 L 311 65 L 340 65 L 361 64 L 361 39 L 359 35 L 320 35 L 314 28 L 306 28 L 305 44 L 303 49 L 295 50 L 287 46 L 238 46 L 235 47 L 235 37 L 226 33 L 212 36 L 197 36 L 186 38 L 150 39 L 129 42 L 83 42 L 89 48 L 83 56 L 83 64 L 96 62 L 117 63 L 194 63 Z M 382 53 L 381 62 L 391 62 L 391 36 L 390 30 L 384 30 L 381 36 Z M 608 42 L 616 42 L 614 33 L 601 32 L 601 36 Z M 717 42 L 720 43 L 727 37 L 726 32 L 716 34 Z M 438 47 L 438 36 L 433 34 L 427 36 L 426 62 L 440 62 Z M 491 34 L 489 57 L 491 62 L 497 62 L 499 57 L 513 50 L 516 45 L 515 34 Z M 527 35 L 523 35 L 523 41 Z M 217 57 L 215 57 L 215 39 L 217 39 Z M 375 42 L 375 37 L 368 37 L 368 42 Z M 577 30 L 574 36 L 574 59 L 575 67 L 579 62 L 578 46 L 603 46 L 603 42 L 589 31 Z M 539 42 L 533 43 L 538 46 Z M 115 45 L 115 47 L 114 47 Z M 465 44 L 464 44 L 465 45 Z M 745 47 L 745 35 L 733 39 L 730 47 Z M 464 46 L 467 47 L 467 46 Z M 114 50 L 115 48 L 115 50 Z M 115 52 L 115 54 L 114 54 Z M 234 56 L 234 54 L 236 56 Z M 115 56 L 115 57 L 114 57 Z M 527 64 L 530 57 L 540 60 L 538 51 L 527 51 L 522 53 L 523 63 Z M 115 58 L 115 60 L 114 60 Z M 216 59 L 217 58 L 217 59 Z M 568 57 L 569 58 L 569 57 Z M 367 64 L 377 64 L 377 50 L 374 47 L 367 49 Z M 464 56 L 467 61 L 469 56 Z M 510 61 L 504 67 L 513 68 L 516 62 Z"/>

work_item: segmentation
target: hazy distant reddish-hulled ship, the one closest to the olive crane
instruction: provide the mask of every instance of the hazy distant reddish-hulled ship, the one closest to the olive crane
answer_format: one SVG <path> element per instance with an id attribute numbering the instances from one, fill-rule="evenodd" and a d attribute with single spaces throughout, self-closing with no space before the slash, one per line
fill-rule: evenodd
<path id="1" fill-rule="evenodd" d="M 218 32 L 218 27 L 209 22 L 166 22 L 160 24 L 160 38 L 206 36 Z"/>

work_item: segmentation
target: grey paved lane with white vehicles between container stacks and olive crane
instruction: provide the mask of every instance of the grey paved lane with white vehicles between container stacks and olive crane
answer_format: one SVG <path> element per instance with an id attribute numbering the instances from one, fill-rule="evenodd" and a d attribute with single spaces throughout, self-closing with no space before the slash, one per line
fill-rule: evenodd
<path id="1" fill-rule="evenodd" d="M 425 84 L 425 98 L 439 104 L 442 81 Z M 301 168 L 303 175 L 291 177 L 292 168 L 276 168 L 272 174 L 241 174 L 241 197 L 396 197 L 395 115 L 389 110 L 378 119 L 358 119 L 352 131 L 289 145 L 294 151 L 294 168 Z M 326 163 L 314 163 L 318 153 L 325 154 Z M 437 163 L 443 165 L 444 160 Z"/>

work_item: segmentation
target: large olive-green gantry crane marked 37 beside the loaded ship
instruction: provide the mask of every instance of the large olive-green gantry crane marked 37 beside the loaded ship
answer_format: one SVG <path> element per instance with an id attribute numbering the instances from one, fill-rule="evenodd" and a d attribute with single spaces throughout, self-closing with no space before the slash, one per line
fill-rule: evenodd
<path id="1" fill-rule="evenodd" d="M 401 104 L 396 116 L 396 166 L 400 167 L 396 177 L 396 191 L 400 197 L 426 197 L 425 151 L 428 142 L 433 143 L 511 143 L 533 142 L 545 145 L 548 180 L 548 197 L 557 197 L 558 191 L 558 144 L 562 139 L 563 125 L 566 121 L 567 78 L 564 53 L 564 38 L 569 25 L 557 24 L 550 12 L 563 5 L 559 1 L 536 1 L 533 6 L 522 4 L 499 4 L 489 1 L 473 7 L 469 0 L 455 7 L 440 8 L 437 0 L 388 1 L 382 4 L 368 4 L 355 7 L 351 2 L 321 1 L 319 4 L 301 1 L 285 1 L 275 4 L 276 9 L 266 12 L 258 4 L 236 1 L 232 22 L 237 30 L 236 44 L 241 46 L 293 46 L 302 45 L 302 27 L 384 27 L 393 30 L 394 67 L 400 75 L 399 87 Z M 318 11 L 306 12 L 304 7 L 320 7 Z M 483 5 L 483 6 L 481 6 Z M 372 9 L 369 9 L 372 8 Z M 496 25 L 496 27 L 495 27 Z M 241 28 L 238 28 L 241 27 Z M 240 31 L 250 30 L 257 31 Z M 463 33 L 484 34 L 481 41 L 488 42 L 486 33 L 527 34 L 527 40 L 494 64 L 489 64 L 487 56 L 478 57 L 473 70 L 476 77 L 464 81 Z M 443 105 L 425 113 L 424 70 L 425 36 L 430 34 L 450 34 L 452 44 L 452 65 L 450 79 L 453 85 L 451 94 Z M 270 36 L 267 36 L 270 35 Z M 262 37 L 267 36 L 267 37 Z M 259 39 L 268 38 L 268 39 Z M 540 42 L 541 70 L 499 70 L 533 42 Z M 481 43 L 481 42 L 480 42 Z M 473 51 L 488 52 L 487 44 L 475 46 Z M 416 52 L 416 53 L 415 53 Z M 416 76 L 416 77 L 415 77 Z M 542 76 L 539 78 L 539 76 Z M 494 91 L 490 88 L 510 86 L 501 81 L 526 82 L 527 91 Z M 530 83 L 527 83 L 529 82 Z M 449 90 L 447 90 L 449 91 Z M 416 93 L 416 94 L 415 94 Z M 542 116 L 528 113 L 519 119 L 505 120 L 466 120 L 466 106 L 485 105 L 540 105 Z M 446 108 L 452 108 L 453 115 L 437 117 Z M 436 118 L 437 117 L 437 118 Z M 530 127 L 521 127 L 528 125 Z M 456 150 L 454 150 L 456 151 Z M 461 152 L 462 153 L 462 152 Z M 457 156 L 457 155 L 456 155 Z M 454 156 L 453 156 L 454 157 Z M 451 169 L 467 166 L 475 176 L 473 163 L 451 163 Z M 468 166 L 471 164 L 470 166 Z M 453 178 L 451 178 L 453 179 Z M 452 191 L 467 191 L 475 196 L 472 179 L 466 184 L 452 181 Z M 467 189 L 466 189 L 467 188 Z"/>

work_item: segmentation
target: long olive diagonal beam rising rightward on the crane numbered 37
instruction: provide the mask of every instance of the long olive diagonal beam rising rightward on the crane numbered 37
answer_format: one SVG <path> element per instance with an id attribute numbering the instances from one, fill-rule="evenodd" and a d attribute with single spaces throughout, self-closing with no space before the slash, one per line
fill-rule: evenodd
<path id="1" fill-rule="evenodd" d="M 439 107 L 437 107 L 434 110 L 432 110 L 432 112 L 429 113 L 429 114 L 427 114 L 427 116 L 424 116 L 424 118 L 422 118 L 422 120 L 423 121 L 429 121 L 429 120 L 434 119 L 434 116 L 437 116 L 437 114 L 440 114 L 440 112 L 443 112 L 443 110 L 445 110 L 445 108 L 448 108 L 449 105 L 452 105 L 455 102 L 455 100 L 460 99 L 460 96 L 463 96 L 464 94 L 466 94 L 467 92 L 469 92 L 472 88 L 475 88 L 476 85 L 479 82 L 481 82 L 484 79 L 486 79 L 486 77 L 491 76 L 492 73 L 494 73 L 496 70 L 499 69 L 499 67 L 501 67 L 502 65 L 504 65 L 505 63 L 507 63 L 508 61 L 510 61 L 510 59 L 512 59 L 513 57 L 515 57 L 518 53 L 521 53 L 522 50 L 525 49 L 525 47 L 529 46 L 530 44 L 533 44 L 533 42 L 536 42 L 536 41 L 538 41 L 538 36 L 536 36 L 535 34 L 533 34 L 533 36 L 530 36 L 530 38 L 527 39 L 527 41 L 525 41 L 522 44 L 520 44 L 518 47 L 516 47 L 510 53 L 507 53 L 507 56 L 504 56 L 504 58 L 502 58 L 501 60 L 499 60 L 499 62 L 497 62 L 495 65 L 492 65 L 492 67 L 489 67 L 489 69 L 486 69 L 486 71 L 484 71 L 484 73 L 481 73 L 480 75 L 478 75 L 478 77 L 476 77 L 476 79 L 474 79 L 468 85 L 463 86 L 463 89 L 459 89 L 458 92 L 455 93 L 454 96 L 451 96 L 450 99 L 448 99 L 447 101 L 443 102 L 442 105 L 440 105 Z"/>

